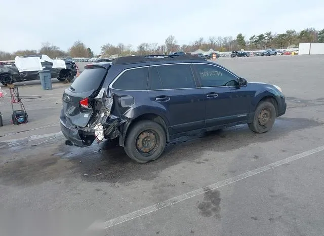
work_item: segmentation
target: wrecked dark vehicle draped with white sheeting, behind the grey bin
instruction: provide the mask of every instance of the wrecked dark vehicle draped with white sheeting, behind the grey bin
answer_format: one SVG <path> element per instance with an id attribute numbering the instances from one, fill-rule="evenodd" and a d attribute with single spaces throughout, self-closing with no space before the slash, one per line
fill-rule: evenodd
<path id="1" fill-rule="evenodd" d="M 27 58 L 33 60 L 33 64 L 39 66 L 28 66 Z M 38 65 L 37 64 L 37 65 Z M 55 60 L 47 55 L 27 55 L 16 57 L 15 61 L 0 61 L 0 82 L 9 85 L 23 81 L 39 80 L 39 70 L 50 70 L 52 78 L 59 81 L 72 81 L 78 72 L 77 65 L 72 60 Z"/>

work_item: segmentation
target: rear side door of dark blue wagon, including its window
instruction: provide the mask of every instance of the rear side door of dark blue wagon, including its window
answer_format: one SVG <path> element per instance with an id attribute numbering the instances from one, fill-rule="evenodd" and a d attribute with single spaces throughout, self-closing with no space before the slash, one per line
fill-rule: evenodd
<path id="1" fill-rule="evenodd" d="M 204 93 L 190 63 L 150 66 L 148 96 L 152 106 L 165 111 L 170 135 L 204 127 Z"/>

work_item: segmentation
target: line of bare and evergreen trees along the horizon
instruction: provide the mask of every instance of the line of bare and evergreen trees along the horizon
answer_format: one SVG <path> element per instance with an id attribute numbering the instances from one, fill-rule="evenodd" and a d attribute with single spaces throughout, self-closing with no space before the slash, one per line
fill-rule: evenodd
<path id="1" fill-rule="evenodd" d="M 134 48 L 132 45 L 119 43 L 117 45 L 105 44 L 101 46 L 101 56 L 128 56 L 128 55 L 148 55 L 148 54 L 164 54 L 170 52 L 194 52 L 197 49 L 208 51 L 226 52 L 233 50 L 264 50 L 267 48 L 284 49 L 287 47 L 298 47 L 299 43 L 324 43 L 324 29 L 316 30 L 314 28 L 306 28 L 301 31 L 293 29 L 286 30 L 285 33 L 272 33 L 271 31 L 252 35 L 246 38 L 245 35 L 239 33 L 236 37 L 232 36 L 210 36 L 207 40 L 204 37 L 199 37 L 198 40 L 190 43 L 179 45 L 174 35 L 169 35 L 164 44 L 158 43 L 142 43 Z M 28 54 L 46 54 L 51 58 L 57 57 L 95 57 L 92 50 L 83 42 L 76 41 L 67 50 L 63 51 L 59 47 L 43 43 L 39 50 L 19 50 L 14 53 L 0 51 L 0 60 L 13 60 L 16 56 Z"/>

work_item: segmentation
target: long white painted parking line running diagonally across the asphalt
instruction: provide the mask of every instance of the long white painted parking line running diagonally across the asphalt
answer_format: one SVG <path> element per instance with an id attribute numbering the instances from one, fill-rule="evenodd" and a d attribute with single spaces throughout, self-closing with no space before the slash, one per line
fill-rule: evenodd
<path id="1" fill-rule="evenodd" d="M 129 214 L 126 214 L 126 215 L 123 215 L 123 216 L 119 216 L 117 218 L 106 221 L 105 224 L 104 224 L 104 228 L 107 229 L 107 228 L 112 227 L 114 225 L 121 224 L 121 223 L 130 221 L 130 220 L 133 220 L 135 218 L 147 215 L 147 214 L 149 214 L 151 212 L 155 212 L 155 211 L 160 210 L 162 208 L 169 207 L 171 205 L 182 202 L 184 200 L 191 199 L 194 196 L 203 194 L 204 192 L 211 191 L 211 190 L 214 190 L 214 189 L 229 185 L 231 183 L 235 183 L 235 182 L 237 182 L 239 180 L 249 178 L 251 176 L 254 176 L 254 175 L 262 173 L 264 171 L 273 169 L 275 167 L 278 167 L 278 166 L 281 166 L 281 165 L 296 161 L 296 160 L 301 159 L 301 158 L 305 158 L 306 156 L 309 156 L 311 154 L 314 154 L 314 153 L 322 151 L 322 150 L 324 150 L 324 146 L 320 146 L 320 147 L 317 147 L 315 149 L 311 149 L 311 150 L 308 150 L 308 151 L 305 151 L 305 152 L 290 156 L 289 158 L 286 158 L 286 159 L 283 159 L 281 161 L 271 163 L 271 164 L 266 165 L 264 167 L 260 167 L 258 169 L 246 172 L 244 174 L 236 175 L 236 176 L 234 176 L 232 178 L 225 179 L 223 181 L 219 181 L 219 182 L 211 184 L 209 186 L 199 188 L 199 189 L 193 190 L 191 192 L 184 193 L 182 195 L 176 196 L 175 198 L 166 200 L 164 202 L 154 204 L 152 206 L 149 206 L 149 207 L 134 211 L 132 213 L 129 213 Z"/>

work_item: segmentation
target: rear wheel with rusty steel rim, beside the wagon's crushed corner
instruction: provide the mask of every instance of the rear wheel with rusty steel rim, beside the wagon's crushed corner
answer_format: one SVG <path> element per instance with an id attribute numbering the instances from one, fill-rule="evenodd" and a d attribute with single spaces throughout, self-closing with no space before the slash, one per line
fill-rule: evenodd
<path id="1" fill-rule="evenodd" d="M 148 136 L 151 135 L 151 136 Z M 144 142 L 153 138 L 155 140 L 155 145 L 150 147 L 150 151 L 145 153 L 140 150 L 141 147 L 144 149 Z M 166 132 L 159 124 L 149 120 L 142 120 L 134 124 L 130 128 L 125 140 L 125 152 L 126 154 L 138 163 L 146 163 L 149 161 L 154 161 L 163 153 L 166 147 Z"/>

